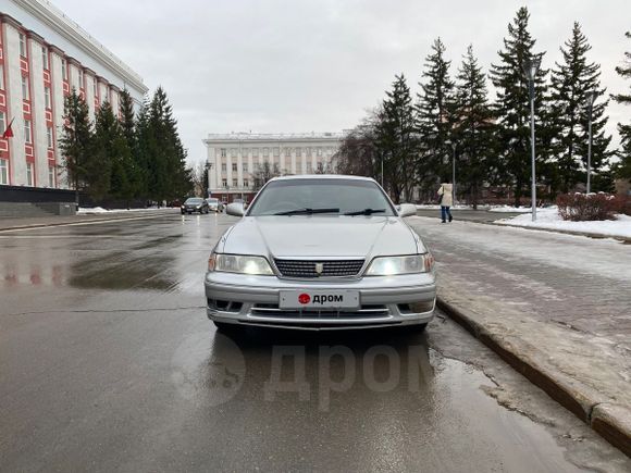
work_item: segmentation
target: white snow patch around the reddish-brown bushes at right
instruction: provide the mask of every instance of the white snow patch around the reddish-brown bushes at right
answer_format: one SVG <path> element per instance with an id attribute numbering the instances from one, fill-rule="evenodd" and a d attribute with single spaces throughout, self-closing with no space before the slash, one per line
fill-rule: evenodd
<path id="1" fill-rule="evenodd" d="M 561 220 L 556 207 L 536 210 L 536 222 L 532 221 L 530 213 L 512 219 L 500 219 L 495 223 L 502 225 L 528 226 L 532 228 L 560 229 L 569 232 L 584 232 L 594 235 L 609 237 L 631 238 L 631 216 L 617 215 L 617 220 L 567 222 Z"/>

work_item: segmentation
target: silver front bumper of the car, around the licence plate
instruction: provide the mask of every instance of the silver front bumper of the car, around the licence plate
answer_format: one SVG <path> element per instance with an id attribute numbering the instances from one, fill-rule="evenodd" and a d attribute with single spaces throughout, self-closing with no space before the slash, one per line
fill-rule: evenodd
<path id="1" fill-rule="evenodd" d="M 371 276 L 359 279 L 296 281 L 212 272 L 206 275 L 208 318 L 212 321 L 301 329 L 369 328 L 418 325 L 434 316 L 433 273 Z M 358 290 L 358 310 L 284 310 L 283 289 Z"/>

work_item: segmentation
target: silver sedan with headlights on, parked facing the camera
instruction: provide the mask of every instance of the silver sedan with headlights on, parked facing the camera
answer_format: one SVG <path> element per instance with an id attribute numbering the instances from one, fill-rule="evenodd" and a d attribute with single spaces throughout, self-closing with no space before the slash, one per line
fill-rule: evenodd
<path id="1" fill-rule="evenodd" d="M 208 316 L 236 325 L 423 329 L 436 298 L 434 260 L 373 179 L 270 181 L 220 238 L 206 274 Z"/>

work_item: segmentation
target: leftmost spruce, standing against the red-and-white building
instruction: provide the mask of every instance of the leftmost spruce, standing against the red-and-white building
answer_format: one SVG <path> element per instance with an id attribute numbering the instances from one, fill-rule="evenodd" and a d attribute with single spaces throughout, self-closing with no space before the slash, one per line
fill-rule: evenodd
<path id="1" fill-rule="evenodd" d="M 63 169 L 66 172 L 67 184 L 76 191 L 78 206 L 79 190 L 89 187 L 94 149 L 94 130 L 89 120 L 88 105 L 73 88 L 64 101 L 64 122 L 60 139 L 60 150 L 63 154 Z"/>

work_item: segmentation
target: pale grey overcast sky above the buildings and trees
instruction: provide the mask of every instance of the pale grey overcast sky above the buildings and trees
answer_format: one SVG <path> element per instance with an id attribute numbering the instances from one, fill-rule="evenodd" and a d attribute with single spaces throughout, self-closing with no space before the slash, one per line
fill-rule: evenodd
<path id="1" fill-rule="evenodd" d="M 418 91 L 441 37 L 456 72 L 473 43 L 487 71 L 525 4 L 544 66 L 579 21 L 609 92 L 631 84 L 614 67 L 631 40 L 630 0 L 53 0 L 153 90 L 162 85 L 190 161 L 208 133 L 338 132 L 355 126 L 397 73 Z M 89 4 L 89 7 L 88 7 Z M 611 103 L 609 128 L 631 121 Z M 618 141 L 617 135 L 615 141 Z"/>

